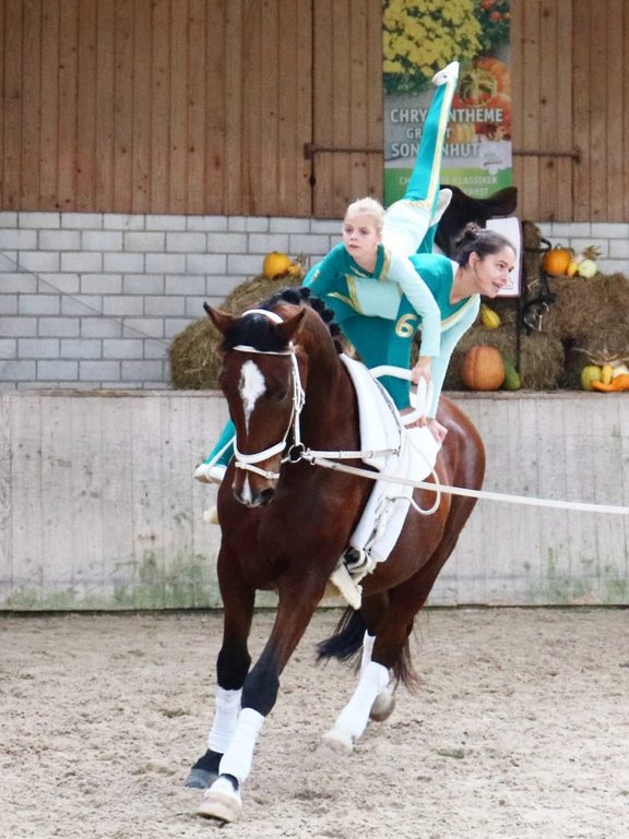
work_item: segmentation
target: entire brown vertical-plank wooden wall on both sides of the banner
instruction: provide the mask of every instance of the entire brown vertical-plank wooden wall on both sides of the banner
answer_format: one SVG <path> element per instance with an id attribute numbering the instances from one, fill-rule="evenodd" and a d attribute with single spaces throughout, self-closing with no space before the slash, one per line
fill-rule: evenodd
<path id="1" fill-rule="evenodd" d="M 382 191 L 381 0 L 0 0 L 0 209 L 339 217 Z M 629 7 L 512 0 L 514 180 L 629 220 Z"/>

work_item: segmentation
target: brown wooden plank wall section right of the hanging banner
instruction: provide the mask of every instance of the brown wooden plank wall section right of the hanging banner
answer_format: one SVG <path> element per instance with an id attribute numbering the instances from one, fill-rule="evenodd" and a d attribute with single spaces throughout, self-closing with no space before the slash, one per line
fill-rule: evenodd
<path id="1" fill-rule="evenodd" d="M 629 5 L 512 0 L 519 214 L 629 220 Z"/>

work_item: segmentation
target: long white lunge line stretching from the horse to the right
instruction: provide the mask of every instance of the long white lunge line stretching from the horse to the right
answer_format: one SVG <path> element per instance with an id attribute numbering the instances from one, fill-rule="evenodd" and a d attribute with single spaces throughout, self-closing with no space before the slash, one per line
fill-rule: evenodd
<path id="1" fill-rule="evenodd" d="M 414 481 L 407 478 L 400 478 L 395 475 L 383 475 L 382 472 L 373 472 L 368 469 L 360 469 L 356 466 L 346 466 L 345 464 L 334 463 L 333 460 L 327 460 L 323 457 L 308 457 L 308 453 L 304 454 L 304 458 L 309 460 L 316 466 L 323 466 L 325 469 L 333 469 L 339 472 L 346 472 L 347 475 L 357 475 L 361 478 L 370 478 L 371 480 L 382 480 L 388 483 L 400 483 L 405 487 L 417 487 L 423 490 L 430 490 L 431 492 L 444 492 L 449 495 L 463 495 L 471 499 L 485 499 L 488 501 L 501 501 L 509 504 L 524 504 L 526 506 L 535 507 L 555 507 L 557 510 L 578 510 L 581 513 L 609 513 L 612 515 L 628 516 L 629 507 L 618 506 L 615 504 L 588 504 L 580 501 L 557 501 L 555 499 L 536 499 L 529 498 L 527 495 L 510 495 L 505 492 L 488 492 L 486 490 L 468 490 L 463 487 L 449 487 L 443 483 L 427 483 L 426 481 Z"/>

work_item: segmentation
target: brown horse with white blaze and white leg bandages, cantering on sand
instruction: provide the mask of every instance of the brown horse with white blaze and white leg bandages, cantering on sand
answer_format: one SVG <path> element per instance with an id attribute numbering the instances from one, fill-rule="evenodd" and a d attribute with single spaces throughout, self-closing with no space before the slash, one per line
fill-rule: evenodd
<path id="1" fill-rule="evenodd" d="M 224 822 L 241 810 L 256 740 L 273 708 L 280 675 L 306 631 L 372 489 L 372 481 L 312 465 L 312 451 L 359 452 L 357 399 L 331 334 L 329 310 L 306 289 L 278 292 L 233 316 L 205 307 L 223 334 L 221 387 L 236 426 L 235 457 L 218 492 L 218 582 L 223 644 L 210 748 L 187 786 L 209 787 L 199 814 Z M 319 312 L 316 311 L 319 309 Z M 479 489 L 483 443 L 470 420 L 441 399 L 449 433 L 436 474 L 442 484 Z M 348 462 L 363 467 L 359 459 Z M 435 492 L 415 489 L 428 510 Z M 413 507 L 385 562 L 363 580 L 358 611 L 347 609 L 322 658 L 360 655 L 358 686 L 327 735 L 351 751 L 369 718 L 384 719 L 400 680 L 413 669 L 408 635 L 475 501 L 442 494 L 436 512 Z M 250 669 L 248 636 L 257 590 L 277 592 L 275 622 Z"/>

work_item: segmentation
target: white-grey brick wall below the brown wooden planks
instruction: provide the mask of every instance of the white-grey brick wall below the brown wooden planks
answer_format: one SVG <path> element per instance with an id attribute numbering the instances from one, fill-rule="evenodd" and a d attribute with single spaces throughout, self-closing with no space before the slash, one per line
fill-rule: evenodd
<path id="1" fill-rule="evenodd" d="M 629 224 L 543 224 L 597 244 L 629 276 Z M 340 220 L 0 213 L 0 389 L 169 387 L 168 345 L 258 274 L 264 254 L 314 264 Z"/>

